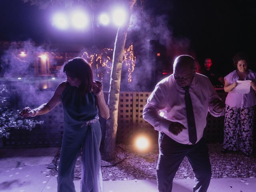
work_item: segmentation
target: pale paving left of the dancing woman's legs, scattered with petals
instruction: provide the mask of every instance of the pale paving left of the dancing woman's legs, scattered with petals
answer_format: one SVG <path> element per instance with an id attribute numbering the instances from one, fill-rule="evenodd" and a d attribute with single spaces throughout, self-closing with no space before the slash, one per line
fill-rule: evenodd
<path id="1" fill-rule="evenodd" d="M 0 192 L 42 192 L 58 148 L 1 148 Z M 53 190 L 55 191 L 55 190 Z"/>

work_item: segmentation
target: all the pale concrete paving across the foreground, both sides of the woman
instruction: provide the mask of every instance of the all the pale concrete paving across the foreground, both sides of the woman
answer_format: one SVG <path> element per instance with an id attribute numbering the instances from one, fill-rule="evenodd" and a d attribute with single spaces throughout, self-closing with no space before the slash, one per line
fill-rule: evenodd
<path id="1" fill-rule="evenodd" d="M 0 192 L 56 192 L 46 167 L 58 148 L 0 149 Z M 80 192 L 80 181 L 74 181 Z M 157 192 L 156 180 L 104 181 L 104 192 Z M 193 179 L 174 180 L 173 192 L 192 192 Z M 255 192 L 256 178 L 212 179 L 208 192 Z"/>

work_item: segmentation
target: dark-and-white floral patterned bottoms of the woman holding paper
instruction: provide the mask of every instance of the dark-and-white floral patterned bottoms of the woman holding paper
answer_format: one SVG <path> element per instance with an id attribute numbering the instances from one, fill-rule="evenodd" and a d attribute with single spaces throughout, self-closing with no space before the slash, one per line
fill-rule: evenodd
<path id="1" fill-rule="evenodd" d="M 225 107 L 223 148 L 252 154 L 254 106 L 249 108 Z"/>

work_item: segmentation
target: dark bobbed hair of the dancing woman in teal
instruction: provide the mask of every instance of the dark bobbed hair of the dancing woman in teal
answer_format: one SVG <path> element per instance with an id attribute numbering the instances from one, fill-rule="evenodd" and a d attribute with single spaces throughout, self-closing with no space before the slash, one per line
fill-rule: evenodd
<path id="1" fill-rule="evenodd" d="M 85 94 L 92 91 L 92 68 L 84 58 L 76 57 L 68 60 L 64 65 L 63 72 L 67 72 L 68 76 L 78 78 L 81 81 L 80 93 Z"/>

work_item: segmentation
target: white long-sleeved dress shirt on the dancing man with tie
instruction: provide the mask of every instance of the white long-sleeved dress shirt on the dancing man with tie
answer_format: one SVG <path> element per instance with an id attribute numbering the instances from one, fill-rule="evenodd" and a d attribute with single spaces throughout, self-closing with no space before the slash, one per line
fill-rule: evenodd
<path id="1" fill-rule="evenodd" d="M 193 105 L 194 118 L 196 123 L 197 142 L 202 138 L 206 126 L 208 111 L 215 117 L 224 115 L 224 109 L 216 112 L 216 104 L 211 102 L 221 99 L 214 90 L 210 80 L 201 74 L 196 73 L 190 84 L 190 97 Z M 185 105 L 185 90 L 178 86 L 173 74 L 161 80 L 150 94 L 147 104 L 143 109 L 143 118 L 154 126 L 155 130 L 164 132 L 173 140 L 182 144 L 191 144 L 188 139 L 188 122 Z M 183 124 L 186 129 L 178 135 L 168 131 L 170 121 Z"/>

